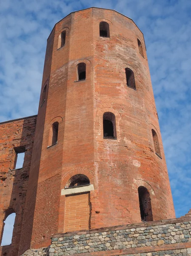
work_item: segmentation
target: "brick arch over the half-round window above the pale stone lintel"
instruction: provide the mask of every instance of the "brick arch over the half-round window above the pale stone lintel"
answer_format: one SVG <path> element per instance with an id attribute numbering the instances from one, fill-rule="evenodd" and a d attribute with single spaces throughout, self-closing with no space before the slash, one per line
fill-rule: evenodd
<path id="1" fill-rule="evenodd" d="M 64 189 L 65 186 L 67 186 L 69 180 L 71 180 L 71 177 L 74 175 L 86 175 L 90 181 L 90 184 L 93 184 L 94 187 L 96 187 L 97 184 L 95 184 L 95 174 L 91 169 L 88 169 L 86 167 L 78 167 L 75 169 L 72 169 L 71 171 L 68 171 L 66 174 L 63 175 L 61 180 L 61 189 Z"/>

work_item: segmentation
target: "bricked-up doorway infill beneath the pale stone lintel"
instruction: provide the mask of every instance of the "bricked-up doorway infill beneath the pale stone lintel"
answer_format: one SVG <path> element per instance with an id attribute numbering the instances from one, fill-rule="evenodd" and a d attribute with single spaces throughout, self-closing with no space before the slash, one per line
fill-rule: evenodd
<path id="1" fill-rule="evenodd" d="M 88 230 L 90 221 L 89 193 L 66 196 L 64 232 Z"/>

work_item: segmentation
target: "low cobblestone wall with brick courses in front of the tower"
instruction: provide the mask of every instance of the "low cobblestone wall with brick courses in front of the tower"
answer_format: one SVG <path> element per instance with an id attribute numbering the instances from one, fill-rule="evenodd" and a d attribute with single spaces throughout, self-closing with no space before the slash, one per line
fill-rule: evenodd
<path id="1" fill-rule="evenodd" d="M 35 254 L 36 253 L 36 254 Z M 181 218 L 55 234 L 49 247 L 22 256 L 188 256 L 191 212 Z"/>

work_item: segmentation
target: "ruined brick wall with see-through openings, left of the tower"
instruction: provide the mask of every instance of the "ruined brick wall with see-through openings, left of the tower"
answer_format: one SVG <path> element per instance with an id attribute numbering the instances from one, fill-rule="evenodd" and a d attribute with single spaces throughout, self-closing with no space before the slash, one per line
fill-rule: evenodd
<path id="1" fill-rule="evenodd" d="M 0 123 L 0 233 L 6 212 L 16 213 L 11 245 L 0 247 L 0 256 L 17 256 L 23 222 L 37 116 Z M 24 147 L 23 168 L 13 169 L 14 148 Z"/>

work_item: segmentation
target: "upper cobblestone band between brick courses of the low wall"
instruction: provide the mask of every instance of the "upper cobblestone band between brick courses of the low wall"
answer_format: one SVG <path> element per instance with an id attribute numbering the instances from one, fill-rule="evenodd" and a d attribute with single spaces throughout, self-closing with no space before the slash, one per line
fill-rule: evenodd
<path id="1" fill-rule="evenodd" d="M 54 256 L 186 243 L 191 241 L 190 235 L 191 221 L 185 221 L 76 236 L 53 237 L 49 252 L 50 256 Z"/>

